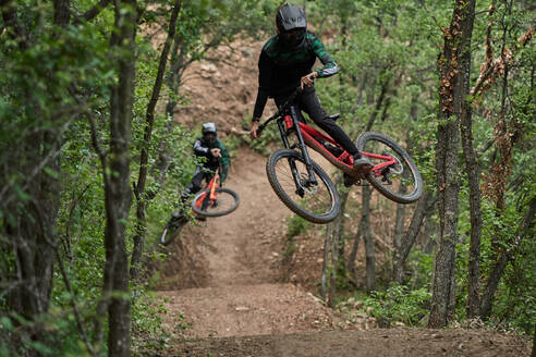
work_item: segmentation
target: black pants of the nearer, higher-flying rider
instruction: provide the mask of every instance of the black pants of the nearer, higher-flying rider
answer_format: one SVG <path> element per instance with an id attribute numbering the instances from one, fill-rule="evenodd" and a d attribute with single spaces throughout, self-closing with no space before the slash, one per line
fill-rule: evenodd
<path id="1" fill-rule="evenodd" d="M 279 107 L 287 101 L 288 96 L 276 97 L 276 104 Z M 315 87 L 305 87 L 305 89 L 296 96 L 294 102 L 301 110 L 307 113 L 309 118 L 318 125 L 322 131 L 328 133 L 333 140 L 344 148 L 350 155 L 354 156 L 360 152 L 352 139 L 342 131 L 342 128 L 336 124 L 336 122 L 328 116 L 326 111 L 320 104 L 320 100 L 316 96 Z M 305 122 L 301 111 L 300 121 Z"/>

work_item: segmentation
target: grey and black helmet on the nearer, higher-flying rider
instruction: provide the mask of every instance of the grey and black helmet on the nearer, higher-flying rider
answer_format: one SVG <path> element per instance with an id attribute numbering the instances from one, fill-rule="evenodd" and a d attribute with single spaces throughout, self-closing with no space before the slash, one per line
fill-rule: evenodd
<path id="1" fill-rule="evenodd" d="M 307 20 L 302 8 L 289 3 L 279 7 L 276 14 L 276 26 L 284 47 L 297 48 L 303 45 Z"/>

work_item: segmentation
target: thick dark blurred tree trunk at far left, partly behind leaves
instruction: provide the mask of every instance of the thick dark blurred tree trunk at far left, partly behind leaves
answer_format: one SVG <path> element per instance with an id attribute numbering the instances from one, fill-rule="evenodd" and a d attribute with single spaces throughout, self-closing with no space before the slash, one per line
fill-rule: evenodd
<path id="1" fill-rule="evenodd" d="M 66 9 L 66 10 L 65 10 Z M 26 37 L 27 30 L 20 22 L 16 9 L 10 2 L 0 7 L 7 32 L 16 34 L 19 48 L 24 52 L 32 46 Z M 66 13 L 66 16 L 65 16 Z M 69 23 L 69 1 L 54 2 L 54 24 L 65 26 Z M 14 254 L 13 272 L 15 286 L 8 293 L 12 309 L 28 320 L 46 313 L 50 305 L 53 284 L 54 247 L 57 238 L 54 226 L 60 206 L 60 148 L 61 133 L 59 131 L 61 115 L 46 116 L 42 107 L 34 94 L 28 90 L 27 104 L 22 109 L 32 119 L 32 133 L 23 137 L 20 148 L 13 150 L 9 159 L 8 170 L 13 170 L 13 177 L 22 176 L 26 182 L 15 183 L 17 189 L 24 193 L 10 192 L 2 205 L 9 245 Z M 38 126 L 37 126 L 38 125 Z M 5 176 L 10 173 L 7 172 Z M 3 175 L 2 175 L 3 176 Z M 13 183 L 4 183 L 9 187 Z M 2 185 L 2 187 L 5 187 Z M 37 322 L 34 327 L 33 338 L 44 337 L 42 325 Z"/>

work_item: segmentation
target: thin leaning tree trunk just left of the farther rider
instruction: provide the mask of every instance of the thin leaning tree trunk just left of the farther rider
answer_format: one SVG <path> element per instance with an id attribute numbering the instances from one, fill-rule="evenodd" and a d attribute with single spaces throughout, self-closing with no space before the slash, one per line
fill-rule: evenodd
<path id="1" fill-rule="evenodd" d="M 176 32 L 176 19 L 181 11 L 182 0 L 175 0 L 173 9 L 171 11 L 171 17 L 168 27 L 168 37 L 163 45 L 162 53 L 160 54 L 160 61 L 158 64 L 158 73 L 155 79 L 155 86 L 153 87 L 153 94 L 150 96 L 149 104 L 147 106 L 147 112 L 145 114 L 145 131 L 144 140 L 142 145 L 142 152 L 139 158 L 139 173 L 137 176 L 137 184 L 135 186 L 136 195 L 136 234 L 134 235 L 134 247 L 132 249 L 131 258 L 131 278 L 136 281 L 139 272 L 139 264 L 142 262 L 142 253 L 144 248 L 145 233 L 147 225 L 145 223 L 145 211 L 147 208 L 148 197 L 145 194 L 145 186 L 147 182 L 147 164 L 149 161 L 149 147 L 150 138 L 153 134 L 153 124 L 155 122 L 155 109 L 160 97 L 160 89 L 162 87 L 163 74 L 166 73 L 166 66 L 168 64 L 168 57 L 170 52 L 173 38 Z"/>

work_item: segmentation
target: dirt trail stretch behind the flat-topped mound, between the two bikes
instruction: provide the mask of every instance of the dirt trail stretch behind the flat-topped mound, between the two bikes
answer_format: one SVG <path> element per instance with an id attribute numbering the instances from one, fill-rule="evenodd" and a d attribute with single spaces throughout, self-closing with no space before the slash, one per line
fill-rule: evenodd
<path id="1" fill-rule="evenodd" d="M 288 212 L 271 192 L 265 161 L 265 158 L 248 149 L 239 151 L 226 187 L 239 194 L 240 206 L 229 216 L 208 219 L 200 232 L 214 248 L 206 251 L 210 287 L 254 285 L 278 280 L 279 247 L 273 245 L 284 234 Z"/>

